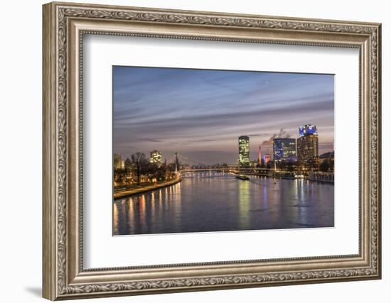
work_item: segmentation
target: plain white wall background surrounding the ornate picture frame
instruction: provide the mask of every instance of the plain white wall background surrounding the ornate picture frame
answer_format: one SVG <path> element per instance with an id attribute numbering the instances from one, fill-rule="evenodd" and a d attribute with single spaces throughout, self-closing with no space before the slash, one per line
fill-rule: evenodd
<path id="1" fill-rule="evenodd" d="M 89 2 L 82 1 L 80 2 Z M 382 214 L 383 279 L 245 290 L 159 294 L 88 302 L 387 302 L 391 287 L 390 250 L 391 149 L 390 8 L 387 1 L 218 1 L 115 0 L 101 4 L 167 9 L 225 11 L 275 16 L 329 18 L 382 23 Z M 1 4 L 0 48 L 0 285 L 2 302 L 42 302 L 41 299 L 41 0 Z M 348 119 L 348 116 L 347 116 Z M 388 121 L 387 121 L 388 120 Z M 390 154 L 390 152 L 388 152 Z M 21 180 L 20 175 L 23 175 Z M 23 182 L 23 187 L 19 183 Z"/>

